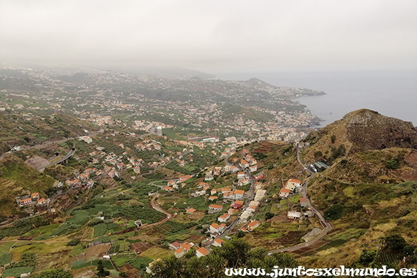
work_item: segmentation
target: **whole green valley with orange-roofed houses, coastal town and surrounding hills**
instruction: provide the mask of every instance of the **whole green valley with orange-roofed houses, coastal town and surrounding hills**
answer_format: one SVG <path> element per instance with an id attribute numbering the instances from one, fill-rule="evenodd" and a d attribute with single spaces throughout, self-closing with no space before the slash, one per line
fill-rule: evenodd
<path id="1" fill-rule="evenodd" d="M 316 130 L 290 98 L 323 92 L 257 79 L 0 77 L 2 277 L 416 265 L 409 122 L 363 109 Z"/>

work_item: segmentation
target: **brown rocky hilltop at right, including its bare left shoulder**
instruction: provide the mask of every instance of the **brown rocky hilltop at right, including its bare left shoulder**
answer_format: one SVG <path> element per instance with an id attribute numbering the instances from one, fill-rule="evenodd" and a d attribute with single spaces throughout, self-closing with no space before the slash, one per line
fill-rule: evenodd
<path id="1" fill-rule="evenodd" d="M 332 149 L 341 145 L 344 146 L 344 154 L 391 147 L 416 149 L 417 129 L 411 122 L 361 109 L 313 131 L 304 142 L 311 145 L 303 153 L 306 161 L 319 158 L 334 161 L 338 155 Z"/>

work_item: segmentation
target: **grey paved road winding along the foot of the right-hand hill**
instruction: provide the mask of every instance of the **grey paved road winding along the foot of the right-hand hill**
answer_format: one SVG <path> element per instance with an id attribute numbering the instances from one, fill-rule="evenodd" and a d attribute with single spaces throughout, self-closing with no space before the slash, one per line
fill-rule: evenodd
<path id="1" fill-rule="evenodd" d="M 298 163 L 300 163 L 300 165 L 302 165 L 302 167 L 304 167 L 304 170 L 306 170 L 307 172 L 309 172 L 311 174 L 311 177 L 314 176 L 314 172 L 309 170 L 308 167 L 306 167 L 304 165 L 304 163 L 302 163 L 301 158 L 300 158 L 300 149 L 297 147 L 297 161 Z M 304 183 L 304 186 L 302 187 L 301 190 L 301 195 L 302 197 L 306 198 L 307 197 L 307 187 L 309 186 L 309 181 L 307 180 Z M 271 253 L 277 253 L 277 252 L 294 252 L 296 250 L 300 250 L 304 247 L 309 247 L 311 245 L 313 245 L 314 243 L 316 243 L 318 240 L 324 238 L 327 233 L 329 233 L 329 231 L 332 230 L 332 224 L 330 224 L 330 222 L 326 222 L 325 218 L 323 217 L 322 213 L 320 211 L 318 211 L 318 209 L 316 207 L 313 206 L 313 204 L 311 204 L 311 200 L 307 199 L 307 204 L 310 208 L 313 209 L 314 213 L 316 213 L 318 220 L 320 221 L 320 224 L 322 225 L 322 231 L 320 232 L 320 234 L 318 234 L 315 238 L 313 238 L 312 240 L 310 240 L 308 243 L 301 243 L 298 245 L 294 245 L 291 247 L 285 247 L 285 248 L 281 248 L 278 250 L 272 250 Z"/>

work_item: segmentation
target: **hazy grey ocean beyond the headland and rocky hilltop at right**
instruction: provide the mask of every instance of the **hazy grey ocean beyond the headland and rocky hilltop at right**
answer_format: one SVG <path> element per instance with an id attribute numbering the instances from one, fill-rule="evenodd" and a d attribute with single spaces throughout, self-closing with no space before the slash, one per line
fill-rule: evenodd
<path id="1" fill-rule="evenodd" d="M 250 72 L 217 76 L 226 80 L 256 77 L 272 85 L 305 87 L 326 95 L 299 97 L 325 126 L 350 111 L 368 108 L 417 125 L 417 72 Z M 320 127 L 318 126 L 318 127 Z"/>

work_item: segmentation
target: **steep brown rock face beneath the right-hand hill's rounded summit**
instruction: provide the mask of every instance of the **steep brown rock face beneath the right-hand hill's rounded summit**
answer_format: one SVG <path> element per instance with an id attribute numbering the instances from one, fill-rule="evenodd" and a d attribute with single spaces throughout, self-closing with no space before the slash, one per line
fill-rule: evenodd
<path id="1" fill-rule="evenodd" d="M 417 149 L 417 129 L 411 122 L 368 109 L 351 112 L 340 122 L 345 125 L 347 140 L 352 142 L 350 152 L 389 147 Z"/>

